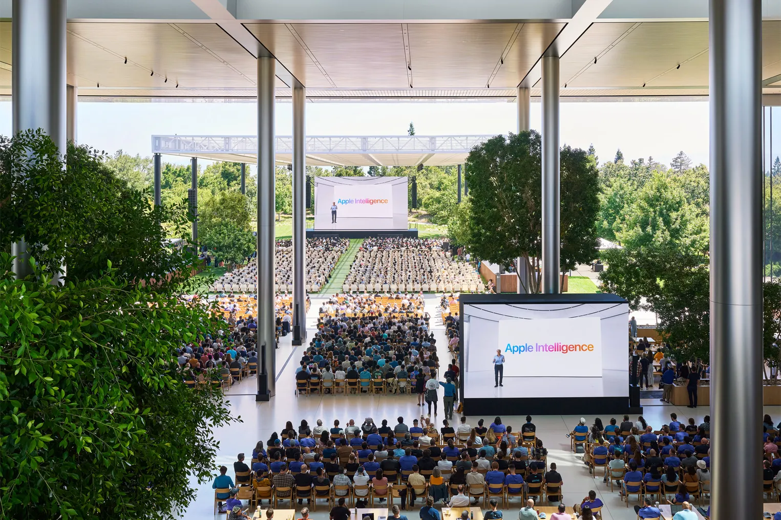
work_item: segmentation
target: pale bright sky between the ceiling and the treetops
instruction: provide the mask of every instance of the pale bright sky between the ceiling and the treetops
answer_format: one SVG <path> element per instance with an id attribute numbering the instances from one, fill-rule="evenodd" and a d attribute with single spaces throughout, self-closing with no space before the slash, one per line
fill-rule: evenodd
<path id="1" fill-rule="evenodd" d="M 7 99 L 7 98 L 6 98 Z M 292 105 L 276 104 L 276 133 L 291 134 Z M 506 134 L 517 126 L 508 102 L 317 102 L 306 105 L 308 135 Z M 152 155 L 153 134 L 255 134 L 251 102 L 80 102 L 77 141 L 113 153 Z M 540 130 L 540 103 L 531 104 L 531 126 Z M 0 135 L 11 133 L 11 103 L 0 102 Z M 684 151 L 708 164 L 708 102 L 562 102 L 561 143 L 587 149 L 599 162 L 615 157 L 668 164 Z M 163 156 L 186 164 L 187 158 Z"/>

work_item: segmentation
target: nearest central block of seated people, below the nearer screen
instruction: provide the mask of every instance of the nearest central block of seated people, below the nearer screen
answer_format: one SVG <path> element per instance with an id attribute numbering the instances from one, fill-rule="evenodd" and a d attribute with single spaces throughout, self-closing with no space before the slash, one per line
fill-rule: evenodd
<path id="1" fill-rule="evenodd" d="M 548 470 L 547 450 L 534 428 L 530 417 L 518 436 L 499 417 L 488 427 L 482 419 L 470 426 L 462 417 L 454 428 L 444 419 L 440 429 L 424 417 L 410 426 L 403 417 L 393 426 L 387 419 L 377 426 L 370 417 L 360 425 L 350 419 L 341 426 L 335 420 L 330 428 L 321 419 L 314 427 L 305 420 L 298 428 L 287 422 L 265 445 L 256 443 L 250 464 L 244 453 L 238 454 L 233 479 L 225 466 L 220 468 L 212 488 L 221 511 L 236 506 L 241 511 L 244 504 L 237 497 L 250 507 L 263 500 L 269 505 L 290 500 L 293 508 L 304 500 L 312 508 L 318 499 L 334 508 L 337 501 L 364 508 L 387 500 L 394 511 L 398 499 L 401 509 L 423 500 L 421 518 L 436 502 L 462 507 L 499 497 L 503 502 L 517 498 L 520 506 L 526 497 L 542 498 L 529 491 L 546 486 L 556 488 L 552 493 L 560 500 L 561 475 L 555 464 Z M 549 491 L 547 498 L 557 496 Z M 492 500 L 494 511 L 496 505 Z"/>

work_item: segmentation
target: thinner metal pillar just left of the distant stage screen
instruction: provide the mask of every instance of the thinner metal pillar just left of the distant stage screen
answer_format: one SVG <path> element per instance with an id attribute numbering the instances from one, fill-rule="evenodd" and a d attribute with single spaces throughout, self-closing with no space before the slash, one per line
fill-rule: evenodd
<path id="1" fill-rule="evenodd" d="M 306 338 L 306 90 L 293 85 L 293 344 Z"/>

